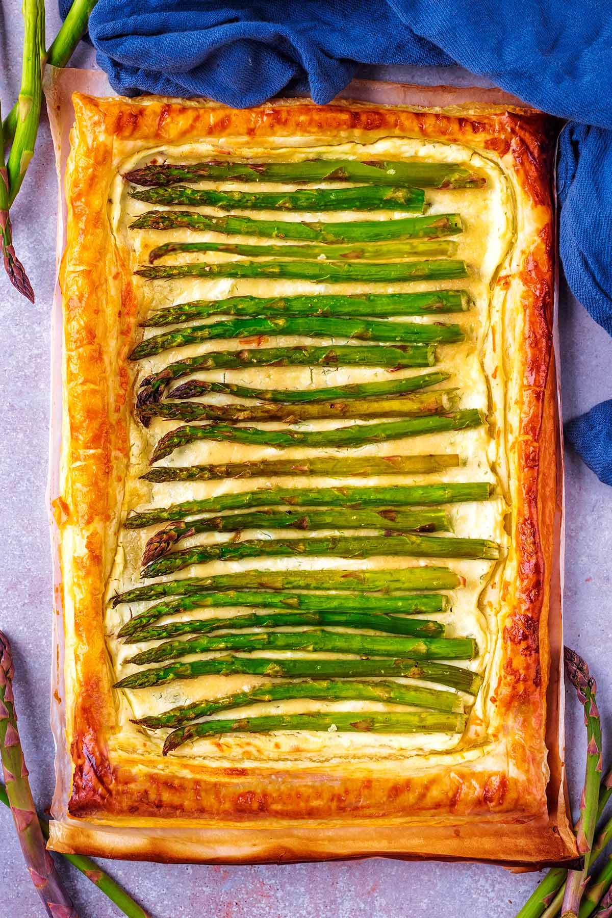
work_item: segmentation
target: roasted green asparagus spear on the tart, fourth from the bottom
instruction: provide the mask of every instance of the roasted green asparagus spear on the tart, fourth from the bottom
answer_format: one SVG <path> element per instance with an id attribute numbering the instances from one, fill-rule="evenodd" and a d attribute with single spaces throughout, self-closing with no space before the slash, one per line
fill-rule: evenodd
<path id="1" fill-rule="evenodd" d="M 358 654 L 360 656 L 398 656 L 406 654 L 427 660 L 471 660 L 478 647 L 469 637 L 375 637 L 370 634 L 338 632 L 263 632 L 260 634 L 220 634 L 194 637 L 188 641 L 167 641 L 130 657 L 126 662 L 137 666 L 176 660 L 190 654 L 209 654 L 217 650 L 241 652 L 291 650 L 304 653 Z"/>

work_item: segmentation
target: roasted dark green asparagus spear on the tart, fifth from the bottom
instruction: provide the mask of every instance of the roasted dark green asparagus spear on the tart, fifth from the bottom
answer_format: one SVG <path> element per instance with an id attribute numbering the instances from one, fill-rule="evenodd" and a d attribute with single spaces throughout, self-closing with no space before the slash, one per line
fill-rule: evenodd
<path id="1" fill-rule="evenodd" d="M 445 628 L 440 621 L 405 619 L 396 615 L 363 612 L 270 612 L 266 615 L 237 615 L 225 619 L 190 619 L 151 625 L 129 634 L 124 644 L 159 641 L 182 634 L 207 634 L 213 631 L 235 631 L 239 628 L 300 628 L 339 627 L 366 629 L 389 634 L 409 634 L 412 637 L 443 637 Z"/>

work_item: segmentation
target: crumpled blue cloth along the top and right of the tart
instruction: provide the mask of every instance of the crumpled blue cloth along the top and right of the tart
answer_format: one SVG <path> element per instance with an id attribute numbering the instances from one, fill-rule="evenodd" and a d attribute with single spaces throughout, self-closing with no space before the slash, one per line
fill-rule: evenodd
<path id="1" fill-rule="evenodd" d="M 68 6 L 61 0 L 63 13 Z M 89 30 L 124 95 L 207 95 L 246 107 L 307 90 L 325 104 L 360 63 L 458 62 L 569 119 L 558 167 L 562 263 L 573 294 L 612 334 L 606 0 L 98 0 Z M 568 435 L 612 484 L 612 401 L 573 421 Z"/>

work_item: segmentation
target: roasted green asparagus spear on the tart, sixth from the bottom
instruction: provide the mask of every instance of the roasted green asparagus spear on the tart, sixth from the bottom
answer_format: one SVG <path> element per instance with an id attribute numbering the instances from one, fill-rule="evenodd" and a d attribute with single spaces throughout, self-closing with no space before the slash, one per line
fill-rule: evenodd
<path id="1" fill-rule="evenodd" d="M 249 572 L 253 573 L 253 572 Z M 257 573 L 257 572 L 256 572 Z M 288 572 L 291 573 L 291 572 Z M 322 571 L 317 571 L 322 574 Z M 329 573 L 335 573 L 333 571 Z M 197 578 L 195 578 L 197 579 Z M 211 577 L 211 579 L 216 579 Z M 252 579 L 252 577 L 250 578 Z M 319 577 L 320 579 L 320 577 Z M 189 580 L 180 580 L 175 586 L 190 589 Z M 163 584 L 162 586 L 166 586 Z M 172 584 L 169 585 L 172 588 Z M 139 589 L 143 589 L 140 587 Z M 146 588 L 144 588 L 146 589 Z M 449 598 L 443 593 L 430 593 L 419 596 L 417 593 L 408 596 L 364 596 L 363 594 L 342 593 L 285 593 L 265 590 L 229 590 L 225 593 L 187 593 L 182 599 L 159 602 L 149 609 L 139 612 L 126 621 L 120 628 L 118 637 L 129 637 L 132 634 L 149 628 L 151 622 L 165 615 L 177 612 L 188 612 L 194 609 L 215 609 L 224 606 L 254 606 L 257 608 L 283 609 L 292 612 L 400 612 L 412 615 L 416 612 L 444 612 L 449 608 Z"/>

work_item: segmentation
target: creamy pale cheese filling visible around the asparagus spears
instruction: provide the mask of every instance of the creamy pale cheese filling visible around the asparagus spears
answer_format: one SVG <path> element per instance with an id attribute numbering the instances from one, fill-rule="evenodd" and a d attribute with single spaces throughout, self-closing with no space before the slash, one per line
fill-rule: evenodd
<path id="1" fill-rule="evenodd" d="M 306 146 L 307 141 L 302 141 Z M 221 141 L 225 150 L 228 144 Z M 170 160 L 171 162 L 197 162 L 206 161 L 215 156 L 216 145 L 214 142 L 196 145 L 150 148 L 140 150 L 138 154 L 126 158 L 120 164 L 117 178 L 111 188 L 109 217 L 115 234 L 117 245 L 128 263 L 136 268 L 139 264 L 147 263 L 149 252 L 152 248 L 165 241 L 228 241 L 228 237 L 213 232 L 195 232 L 189 229 L 176 229 L 172 231 L 134 230 L 128 229 L 129 224 L 140 214 L 152 209 L 128 196 L 128 186 L 121 178 L 121 174 L 130 169 L 150 162 L 151 158 Z M 237 155 L 245 155 L 244 151 L 237 151 Z M 484 189 L 457 189 L 435 190 L 427 189 L 426 207 L 428 213 L 459 212 L 462 217 L 464 231 L 458 237 L 457 253 L 453 257 L 462 258 L 468 264 L 470 276 L 462 281 L 422 282 L 410 284 L 313 284 L 306 281 L 284 280 L 239 280 L 239 279 L 206 279 L 186 278 L 172 281 L 139 281 L 138 293 L 140 303 L 140 316 L 144 318 L 150 308 L 170 306 L 195 299 L 220 299 L 232 296 L 257 296 L 257 297 L 282 297 L 300 294 L 365 294 L 365 293 L 401 293 L 440 288 L 467 289 L 473 298 L 473 308 L 461 314 L 451 314 L 438 317 L 410 317 L 409 321 L 433 322 L 447 321 L 458 323 L 465 332 L 465 341 L 460 344 L 440 345 L 438 348 L 439 361 L 436 368 L 446 370 L 451 378 L 440 387 L 457 387 L 461 395 L 460 407 L 462 409 L 480 409 L 488 416 L 489 423 L 481 428 L 468 431 L 455 431 L 451 433 L 432 434 L 405 440 L 385 442 L 375 445 L 363 446 L 354 450 L 321 450 L 291 448 L 277 450 L 274 448 L 246 446 L 236 443 L 222 442 L 195 442 L 189 446 L 176 450 L 161 465 L 206 465 L 215 463 L 244 462 L 261 459 L 300 459 L 311 455 L 328 455 L 337 457 L 339 464 L 347 454 L 369 455 L 395 455 L 395 454 L 422 454 L 422 453 L 459 453 L 461 465 L 446 469 L 439 475 L 411 475 L 411 476 L 378 476 L 368 478 L 323 478 L 316 476 L 295 476 L 276 479 L 277 487 L 328 487 L 341 484 L 342 486 L 358 485 L 407 485 L 431 484 L 437 481 L 489 481 L 495 484 L 495 496 L 488 501 L 474 503 L 452 504 L 449 510 L 452 521 L 452 534 L 462 537 L 492 539 L 502 546 L 502 552 L 507 546 L 506 514 L 508 507 L 506 501 L 510 496 L 508 481 L 507 440 L 506 430 L 506 377 L 505 377 L 505 310 L 503 297 L 492 296 L 493 282 L 501 271 L 512 269 L 512 252 L 516 235 L 515 205 L 513 190 L 506 173 L 495 162 L 475 153 L 468 147 L 459 144 L 443 144 L 440 142 L 423 142 L 422 140 L 378 140 L 367 146 L 356 143 L 342 143 L 339 146 L 307 146 L 300 149 L 297 145 L 292 147 L 286 140 L 272 143 L 265 150 L 250 148 L 248 157 L 253 161 L 258 155 L 266 160 L 280 162 L 310 159 L 317 156 L 327 156 L 334 159 L 340 158 L 370 158 L 370 159 L 396 159 L 422 157 L 424 160 L 435 162 L 458 162 L 469 164 L 486 176 Z M 197 187 L 198 185 L 191 185 Z M 248 183 L 206 183 L 203 187 L 235 189 L 239 191 L 279 191 L 290 190 L 296 185 L 273 185 Z M 341 185 L 345 187 L 346 185 Z M 157 208 L 164 209 L 164 208 Z M 191 209 L 191 208 L 190 208 Z M 196 211 L 218 216 L 218 211 L 209 207 L 198 207 Z M 248 211 L 235 211 L 244 216 L 256 216 L 261 219 L 286 219 L 286 220 L 317 220 L 348 221 L 356 219 L 389 219 L 406 216 L 403 213 L 389 213 L 373 211 L 363 213 L 359 211 L 335 213 L 279 213 L 278 211 L 258 211 L 256 214 Z M 270 243 L 253 237 L 232 237 L 231 241 L 244 241 L 251 243 Z M 188 263 L 191 261 L 206 261 L 216 263 L 227 261 L 231 256 L 220 252 L 206 252 L 198 255 L 180 254 L 172 258 L 172 263 Z M 197 324 L 206 321 L 216 321 L 222 316 L 211 319 L 198 319 Z M 159 334 L 166 329 L 148 329 L 144 337 Z M 516 334 L 516 329 L 513 329 Z M 274 337 L 268 341 L 250 341 L 249 346 L 273 346 L 295 344 L 313 344 L 327 346 L 328 344 L 360 344 L 359 341 L 341 341 L 334 339 L 306 339 L 293 337 Z M 141 380 L 150 374 L 159 372 L 164 366 L 175 360 L 183 359 L 198 354 L 219 350 L 239 350 L 244 346 L 244 341 L 208 341 L 202 344 L 188 346 L 175 351 L 164 351 L 152 358 L 141 360 L 133 364 L 135 395 Z M 224 380 L 254 387 L 271 388 L 309 388 L 326 385 L 344 385 L 348 383 L 361 383 L 397 379 L 402 376 L 419 375 L 425 372 L 422 369 L 407 369 L 391 374 L 385 369 L 365 367 L 245 367 L 227 371 L 208 371 L 195 374 L 198 379 Z M 189 377 L 185 377 L 189 378 Z M 184 380 L 181 380 L 182 382 Z M 248 402 L 249 399 L 235 399 L 222 396 L 206 396 L 206 401 L 236 403 Z M 319 420 L 300 425 L 300 430 L 327 430 L 334 427 L 346 426 L 351 422 L 339 420 Z M 352 423 L 360 423 L 353 421 Z M 172 482 L 164 484 L 150 484 L 139 479 L 149 468 L 150 454 L 155 443 L 163 433 L 172 430 L 179 424 L 166 420 L 152 420 L 150 427 L 145 429 L 132 412 L 130 416 L 130 442 L 131 457 L 128 481 L 125 488 L 122 515 L 125 516 L 132 509 L 147 509 L 163 507 L 184 500 L 196 498 L 209 498 L 218 494 L 235 491 L 250 491 L 258 487 L 265 487 L 270 482 L 261 478 Z M 278 424 L 257 425 L 262 428 L 278 427 Z M 136 585 L 141 585 L 139 578 L 140 561 L 144 545 L 150 535 L 155 532 L 155 527 L 144 530 L 122 529 L 117 543 L 117 554 L 112 576 L 107 587 L 107 598 L 117 592 L 124 591 Z M 301 533 L 284 531 L 283 537 L 300 537 Z M 324 535 L 316 532 L 313 535 Z M 368 534 L 355 532 L 354 534 Z M 228 534 L 210 533 L 197 535 L 191 539 L 184 539 L 180 547 L 190 544 L 217 543 L 231 538 Z M 242 532 L 241 540 L 250 538 L 273 538 L 273 532 Z M 239 572 L 249 569 L 287 570 L 287 569 L 388 569 L 403 568 L 410 565 L 445 565 L 457 571 L 465 578 L 465 586 L 451 591 L 451 610 L 439 615 L 428 615 L 428 618 L 437 618 L 447 628 L 447 636 L 464 636 L 475 638 L 479 655 L 471 661 L 450 661 L 457 666 L 470 667 L 484 675 L 484 687 L 478 698 L 473 703 L 470 696 L 464 696 L 467 710 L 472 713 L 468 729 L 463 736 L 456 734 L 406 734 L 387 735 L 372 733 L 273 733 L 273 734 L 235 734 L 219 738 L 198 740 L 195 744 L 187 744 L 173 754 L 174 760 L 184 756 L 186 760 L 214 760 L 219 763 L 228 761 L 243 765 L 257 764 L 262 761 L 277 761 L 282 759 L 301 760 L 328 760 L 341 761 L 344 758 L 364 758 L 381 760 L 393 756 L 402 756 L 408 761 L 410 767 L 424 767 L 431 765 L 444 756 L 452 755 L 453 761 L 465 757 L 478 755 L 478 750 L 483 750 L 488 740 L 488 677 L 495 666 L 495 655 L 498 653 L 499 628 L 498 618 L 501 611 L 501 598 L 499 583 L 500 570 L 495 570 L 495 563 L 485 561 L 461 560 L 431 560 L 427 558 L 404 557 L 372 557 L 364 560 L 346 560 L 341 558 L 261 558 L 242 562 L 211 562 L 206 565 L 196 565 L 186 568 L 172 577 L 198 577 L 215 575 L 228 572 Z M 501 561 L 498 568 L 504 565 Z M 140 650 L 149 649 L 154 644 L 122 644 L 117 641 L 117 631 L 121 625 L 136 612 L 146 608 L 148 603 L 121 604 L 113 609 L 107 604 L 105 629 L 107 646 L 111 665 L 117 678 L 128 676 L 137 672 L 140 667 L 128 664 L 129 656 Z M 240 612 L 252 611 L 246 609 L 224 609 L 224 616 L 232 616 Z M 188 618 L 213 618 L 215 610 L 195 610 L 172 617 L 172 621 L 182 621 Z M 170 621 L 163 619 L 161 621 Z M 228 622 L 228 627 L 230 622 Z M 295 629 L 299 630 L 299 629 Z M 269 652 L 255 654 L 270 656 Z M 277 653 L 276 656 L 292 656 L 297 654 Z M 330 655 L 325 655 L 330 656 Z M 194 657 L 185 657 L 185 660 Z M 198 658 L 202 658 L 200 655 Z M 207 676 L 196 679 L 180 679 L 165 686 L 136 689 L 130 691 L 117 691 L 117 711 L 120 731 L 112 741 L 115 747 L 127 754 L 144 753 L 159 756 L 161 744 L 167 731 L 145 731 L 134 725 L 131 720 L 145 715 L 166 711 L 169 708 L 189 703 L 194 700 L 215 698 L 219 695 L 230 694 L 234 691 L 250 689 L 266 680 L 259 677 Z M 402 680 L 409 682 L 409 679 Z M 423 683 L 421 683 L 423 684 Z M 440 688 L 433 686 L 433 688 Z M 446 688 L 446 687 L 444 687 Z M 239 715 L 259 715 L 270 713 L 293 713 L 306 711 L 406 711 L 404 707 L 395 705 L 382 705 L 367 701 L 339 701 L 321 702 L 307 700 L 285 700 L 276 703 L 259 703 L 249 708 L 239 709 Z M 235 717 L 236 711 L 222 711 L 216 715 L 218 718 Z"/>

